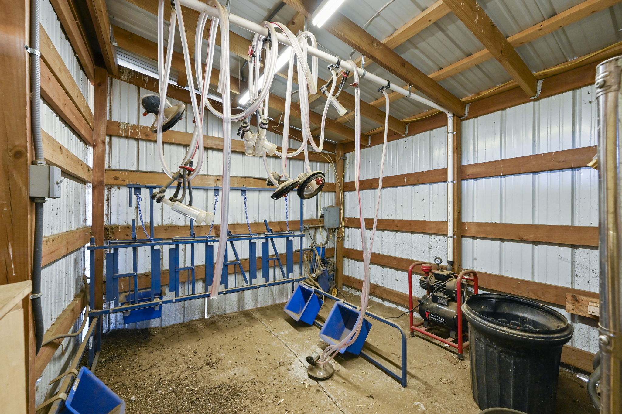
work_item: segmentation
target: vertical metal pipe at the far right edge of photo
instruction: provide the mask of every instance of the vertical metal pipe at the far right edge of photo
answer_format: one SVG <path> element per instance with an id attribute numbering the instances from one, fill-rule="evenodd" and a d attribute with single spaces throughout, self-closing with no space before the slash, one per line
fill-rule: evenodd
<path id="1" fill-rule="evenodd" d="M 622 412 L 622 57 L 596 67 L 600 214 L 600 412 Z"/>

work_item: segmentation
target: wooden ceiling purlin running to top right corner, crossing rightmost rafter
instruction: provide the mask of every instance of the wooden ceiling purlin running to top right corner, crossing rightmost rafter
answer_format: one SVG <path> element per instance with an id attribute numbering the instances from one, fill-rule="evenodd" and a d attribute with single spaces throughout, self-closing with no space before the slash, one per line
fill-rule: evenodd
<path id="1" fill-rule="evenodd" d="M 532 42 L 540 37 L 561 29 L 569 24 L 577 22 L 584 17 L 590 16 L 595 12 L 606 9 L 620 2 L 620 0 L 586 0 L 577 6 L 570 7 L 563 12 L 556 14 L 543 22 L 532 25 L 517 34 L 511 35 L 506 39 L 508 43 L 513 47 L 519 47 L 521 45 Z M 492 58 L 493 55 L 488 49 L 483 49 L 478 52 L 469 55 L 458 62 L 452 63 L 445 68 L 435 71 L 430 75 L 430 78 L 435 81 L 441 81 L 447 79 L 450 76 L 456 75 L 464 70 L 475 67 L 476 65 L 486 62 L 486 60 Z"/>

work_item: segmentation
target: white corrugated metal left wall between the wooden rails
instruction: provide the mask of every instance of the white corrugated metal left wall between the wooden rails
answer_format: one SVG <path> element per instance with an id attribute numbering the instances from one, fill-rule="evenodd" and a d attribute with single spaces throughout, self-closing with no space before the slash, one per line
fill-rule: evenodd
<path id="1" fill-rule="evenodd" d="M 91 104 L 93 87 L 80 67 L 75 52 L 65 36 L 58 17 L 48 0 L 43 0 L 42 22 L 45 32 L 52 39 L 58 53 L 63 58 L 80 91 L 86 101 Z M 75 134 L 70 127 L 42 101 L 41 126 L 65 148 L 70 150 L 78 158 L 91 165 L 91 148 Z M 54 234 L 79 229 L 90 225 L 90 213 L 87 216 L 87 206 L 90 211 L 91 185 L 81 182 L 77 178 L 63 173 L 65 179 L 62 183 L 62 197 L 48 199 L 44 204 L 44 237 Z M 75 295 L 82 288 L 82 275 L 85 274 L 85 248 L 63 256 L 46 265 L 42 270 L 42 306 L 44 315 L 44 329 L 49 329 L 58 315 L 69 305 Z M 72 329 L 80 326 L 82 318 L 79 318 Z M 73 357 L 73 352 L 80 343 L 80 338 L 65 339 L 63 346 L 53 356 L 49 365 L 45 368 L 42 377 L 36 385 L 36 403 L 45 399 L 46 393 L 54 392 L 57 384 L 48 387 L 48 383 L 58 374 L 67 369 L 68 362 Z"/>

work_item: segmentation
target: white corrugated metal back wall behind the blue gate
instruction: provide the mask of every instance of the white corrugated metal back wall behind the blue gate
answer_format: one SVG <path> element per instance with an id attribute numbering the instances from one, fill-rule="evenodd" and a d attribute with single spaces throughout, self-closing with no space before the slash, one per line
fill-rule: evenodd
<path id="1" fill-rule="evenodd" d="M 109 111 L 108 119 L 111 121 L 127 122 L 128 124 L 140 124 L 142 126 L 151 126 L 154 121 L 152 115 L 144 117 L 142 116 L 143 109 L 140 106 L 140 98 L 144 94 L 149 94 L 151 91 L 138 88 L 133 85 L 129 85 L 123 81 L 110 80 L 109 88 Z M 169 99 L 170 103 L 175 104 L 177 101 Z M 122 126 L 123 127 L 123 126 Z M 188 105 L 186 113 L 183 116 L 183 120 L 173 127 L 174 131 L 192 132 L 194 127 L 192 108 Z M 236 132 L 238 124 L 234 123 L 231 126 L 234 139 L 238 139 Z M 209 114 L 208 121 L 203 126 L 203 134 L 222 137 L 222 121 L 220 118 Z M 277 136 L 273 132 L 267 133 L 268 139 L 271 142 L 280 144 L 281 137 Z M 124 169 L 124 170 L 141 170 L 150 172 L 162 172 L 160 163 L 157 156 L 156 143 L 146 140 L 138 140 L 133 138 L 109 136 L 107 139 L 107 151 L 106 151 L 106 168 Z M 290 145 L 298 147 L 299 142 L 292 140 Z M 164 144 L 164 154 L 171 166 L 179 165 L 183 159 L 187 147 L 177 144 Z M 221 150 L 206 150 L 205 162 L 202 167 L 201 173 L 221 175 L 222 174 L 222 157 Z M 332 168 L 329 168 L 327 162 L 310 162 L 311 168 L 315 170 L 322 170 L 327 173 L 327 182 L 335 182 L 335 173 Z M 272 170 L 281 170 L 281 160 L 273 157 L 269 158 L 269 165 Z M 287 164 L 289 173 L 292 176 L 297 176 L 304 170 L 304 162 L 302 160 L 290 160 Z M 241 153 L 233 153 L 231 155 L 231 175 L 237 177 L 266 177 L 266 172 L 263 167 L 262 160 L 258 157 L 247 157 Z M 194 190 L 194 205 L 198 208 L 205 209 L 207 211 L 213 211 L 215 196 L 213 190 Z M 261 222 L 264 219 L 268 221 L 283 221 L 285 220 L 285 201 L 283 199 L 274 201 L 270 198 L 269 191 L 248 191 L 248 220 L 250 223 Z M 147 199 L 147 190 L 143 190 L 143 200 Z M 221 193 L 219 196 L 221 199 Z M 132 219 L 139 221 L 139 215 L 136 208 L 136 200 L 134 200 L 134 207 L 129 208 L 128 205 L 128 189 L 125 186 L 107 186 L 106 188 L 106 224 L 112 226 L 129 225 Z M 304 206 L 304 218 L 316 218 L 318 217 L 318 209 L 322 206 L 334 205 L 335 193 L 323 192 L 322 198 L 313 198 L 312 200 L 305 201 Z M 148 205 L 146 201 L 142 203 L 143 217 L 146 223 L 151 222 L 151 218 L 148 217 Z M 299 214 L 299 198 L 292 196 L 289 204 L 289 219 L 298 219 Z M 236 190 L 231 191 L 230 196 L 230 223 L 245 223 L 246 218 L 244 215 L 244 201 L 241 193 Z M 215 223 L 220 223 L 220 203 L 216 208 L 216 220 Z M 154 207 L 154 224 L 156 226 L 162 224 L 188 226 L 188 232 L 190 231 L 190 221 L 184 216 L 170 211 L 169 208 L 163 208 L 162 205 L 155 205 Z M 292 230 L 295 230 L 292 228 Z M 139 232 L 142 229 L 139 227 Z M 308 245 L 308 243 L 306 244 Z M 298 246 L 295 246 L 297 248 Z M 237 248 L 237 247 L 236 247 Z M 277 241 L 277 249 L 279 252 L 285 252 L 284 241 Z M 230 256 L 233 254 L 229 252 Z M 241 259 L 248 258 L 248 249 L 246 246 L 240 246 L 238 254 Z M 180 262 L 185 262 L 185 265 L 190 265 L 190 249 L 183 249 L 180 254 Z M 162 252 L 162 269 L 168 269 L 169 267 L 169 253 L 167 249 Z M 196 264 L 204 264 L 204 247 L 197 246 L 196 250 L 197 262 Z M 126 259 L 119 260 L 119 271 L 129 271 L 131 266 L 131 256 L 127 255 Z M 139 260 L 139 272 L 149 271 L 149 258 L 147 255 L 141 255 Z M 125 268 L 125 269 L 124 269 Z M 298 266 L 294 266 L 295 275 L 299 274 Z M 197 292 L 203 292 L 205 287 L 202 284 L 197 288 Z M 186 288 L 186 287 L 182 287 Z M 167 290 L 168 292 L 168 290 Z M 255 289 L 248 292 L 231 293 L 228 295 L 222 295 L 218 300 L 208 300 L 207 315 L 219 315 L 221 313 L 229 313 L 233 311 L 239 311 L 257 306 L 270 305 L 271 303 L 278 303 L 287 300 L 290 293 L 289 285 L 281 285 L 275 287 Z M 206 315 L 205 301 L 194 300 L 187 301 L 185 303 L 175 303 L 166 305 L 163 308 L 163 314 L 160 320 L 151 320 L 139 324 L 131 324 L 128 326 L 123 325 L 121 315 L 111 316 L 106 321 L 106 329 L 116 328 L 142 328 L 146 326 L 164 326 L 167 324 L 180 323 L 196 318 L 202 318 Z"/>

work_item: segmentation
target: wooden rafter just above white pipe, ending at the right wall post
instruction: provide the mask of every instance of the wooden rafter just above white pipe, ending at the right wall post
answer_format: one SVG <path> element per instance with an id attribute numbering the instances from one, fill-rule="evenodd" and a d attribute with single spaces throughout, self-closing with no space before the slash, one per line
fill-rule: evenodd
<path id="1" fill-rule="evenodd" d="M 310 0 L 286 0 L 295 11 L 304 13 L 307 17 L 313 14 L 313 1 Z M 322 29 L 343 40 L 346 44 L 355 48 L 363 55 L 368 56 L 381 67 L 396 75 L 401 80 L 415 85 L 418 90 L 448 108 L 458 116 L 465 114 L 465 104 L 456 96 L 430 79 L 425 73 L 415 68 L 406 59 L 397 55 L 391 48 L 376 39 L 353 21 L 339 12 L 333 14 Z"/>

